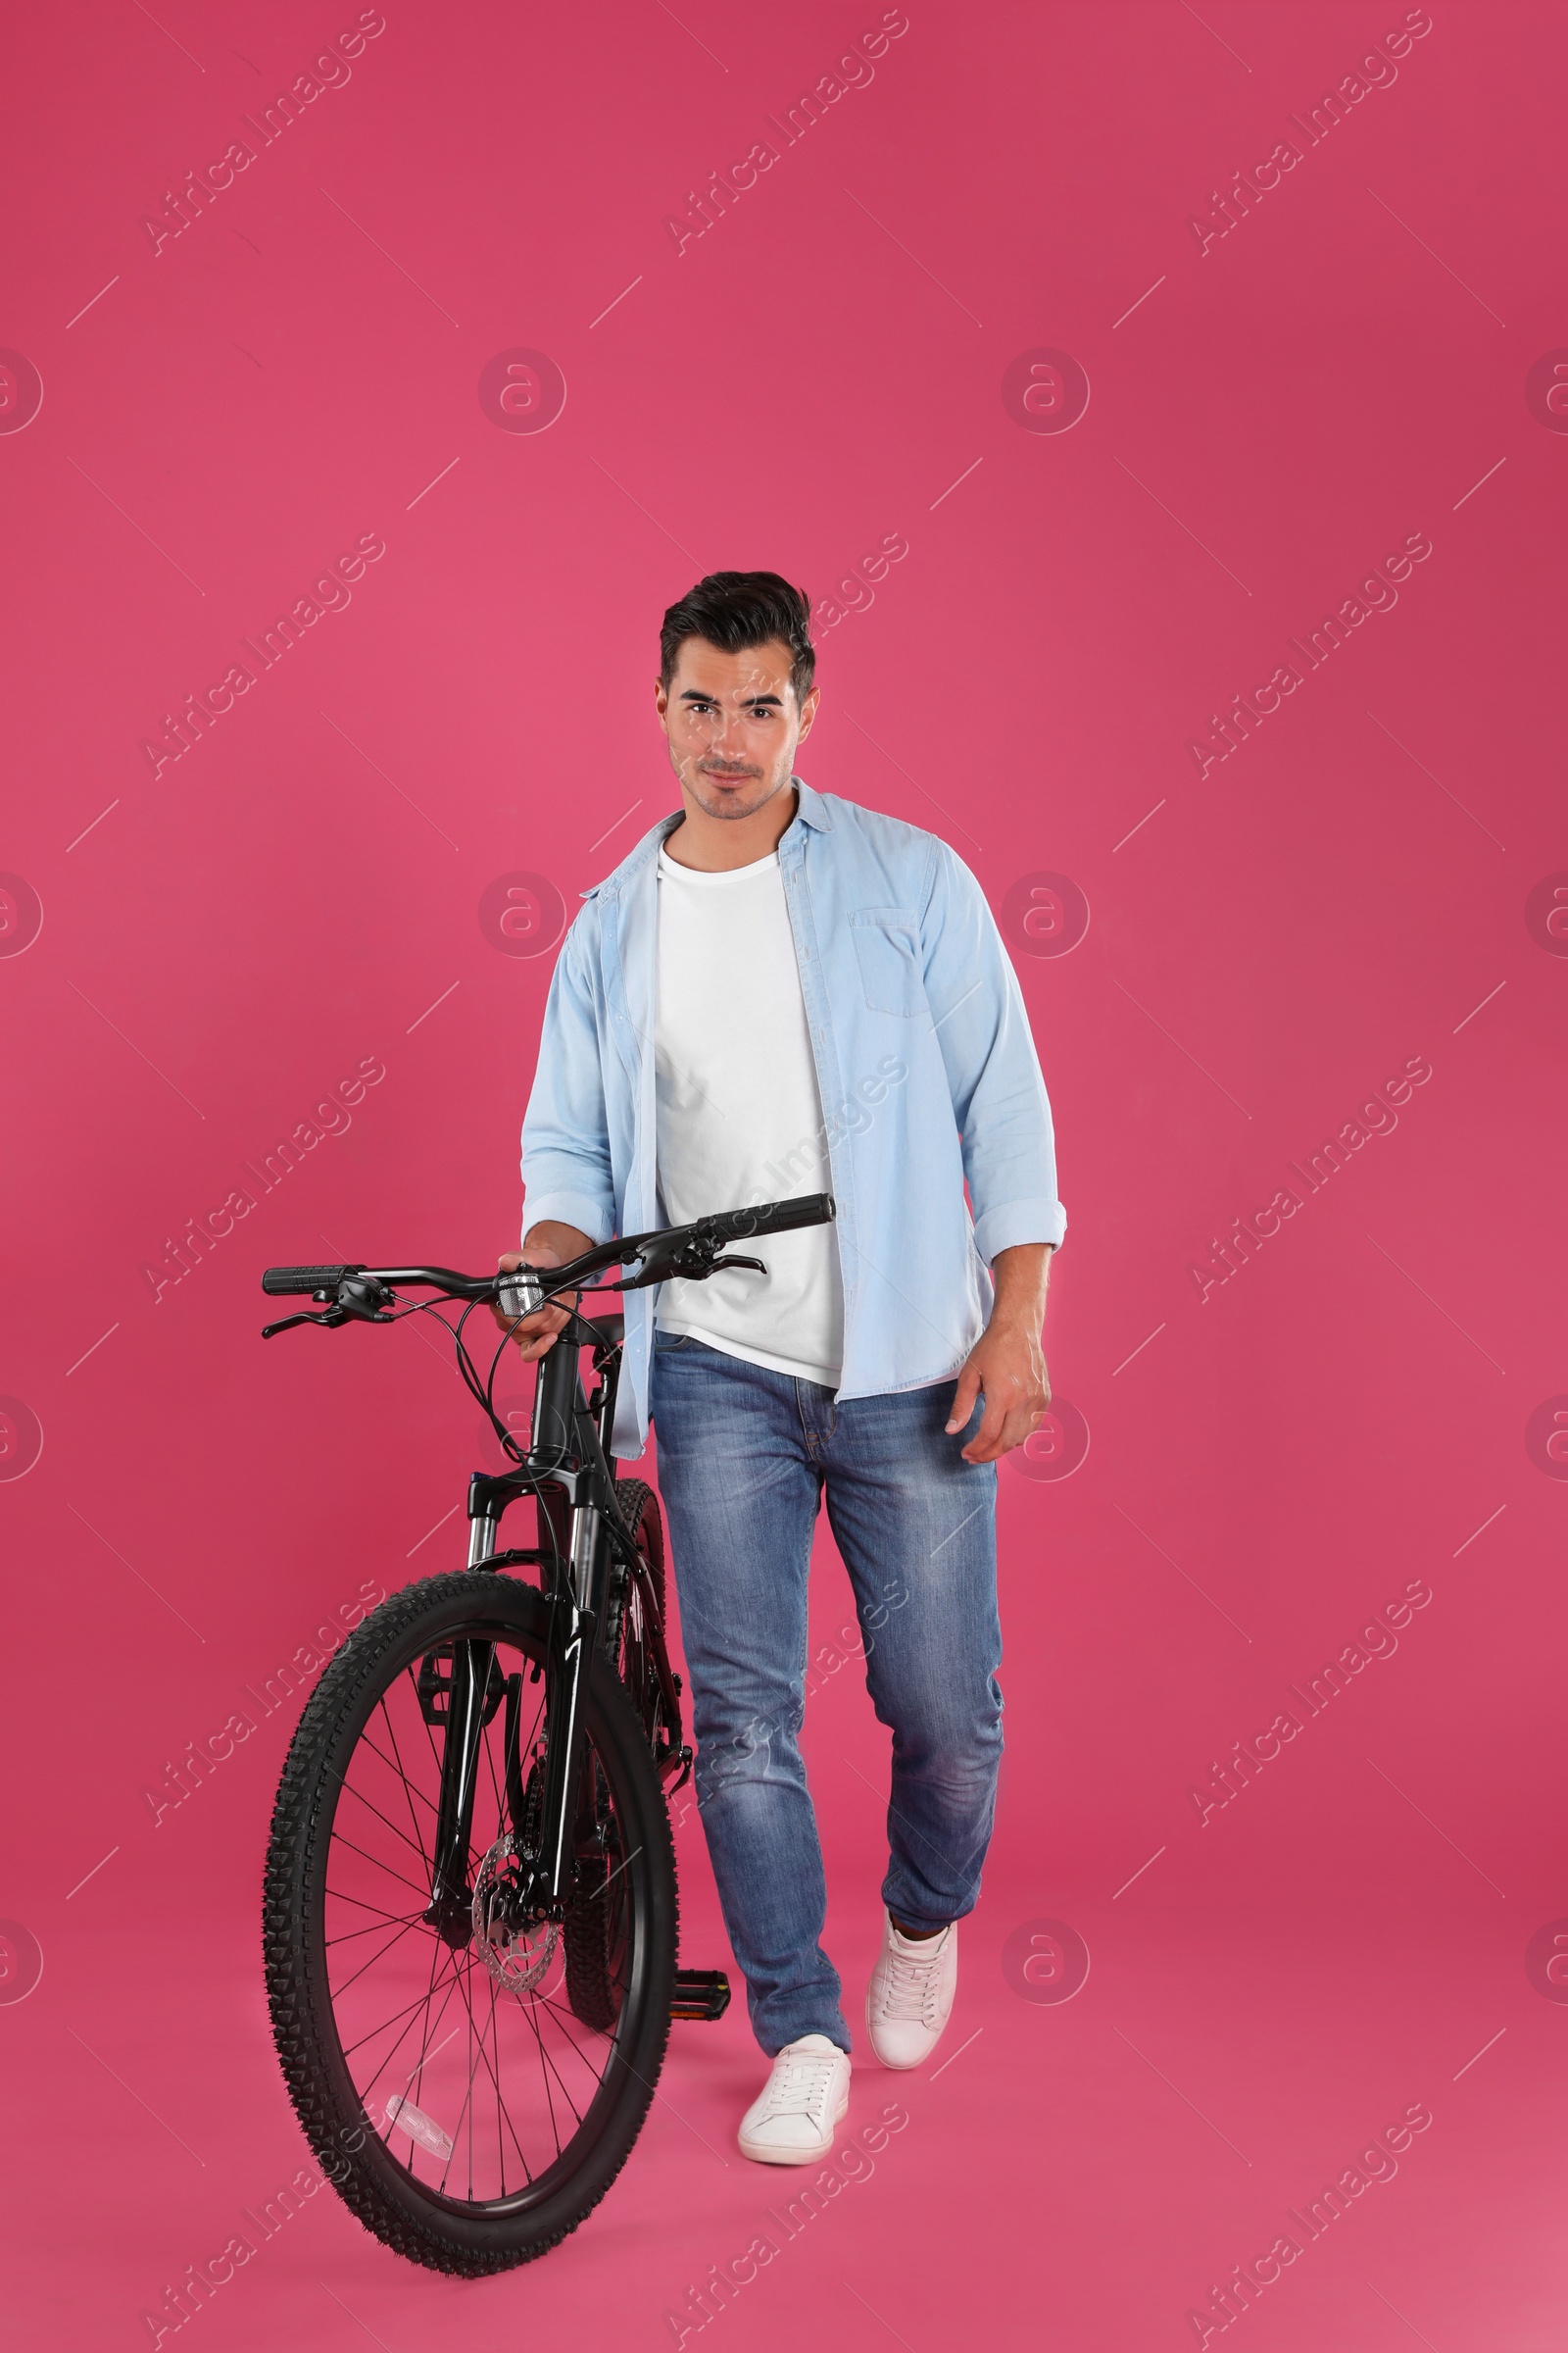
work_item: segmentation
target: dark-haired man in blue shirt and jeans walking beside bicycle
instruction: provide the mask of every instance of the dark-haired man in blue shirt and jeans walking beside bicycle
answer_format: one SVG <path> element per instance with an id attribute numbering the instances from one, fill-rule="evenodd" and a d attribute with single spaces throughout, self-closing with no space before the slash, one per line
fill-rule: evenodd
<path id="1" fill-rule="evenodd" d="M 656 711 L 682 812 L 588 892 L 555 967 L 522 1129 L 522 1259 L 795 1193 L 837 1221 L 766 1275 L 628 1297 L 618 1454 L 658 1433 L 696 1791 L 773 2071 L 741 2148 L 806 2165 L 849 2104 L 797 1746 L 818 1504 L 893 1732 L 882 1955 L 865 2021 L 919 2066 L 952 2012 L 1001 1758 L 997 1457 L 1039 1424 L 1065 1231 L 1018 979 L 931 833 L 813 793 L 806 598 L 715 572 L 663 619 Z M 969 1205 L 964 1186 L 969 1184 Z M 973 1217 L 971 1217 L 973 1209 Z M 656 1297 L 656 1304 L 654 1304 Z M 524 1358 L 564 1315 L 520 1327 Z M 957 1381 L 957 1386 L 954 1386 Z"/>

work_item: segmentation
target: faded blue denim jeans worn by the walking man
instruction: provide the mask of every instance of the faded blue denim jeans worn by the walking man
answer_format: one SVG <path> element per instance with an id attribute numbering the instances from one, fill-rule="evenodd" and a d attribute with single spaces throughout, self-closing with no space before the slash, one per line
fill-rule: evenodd
<path id="1" fill-rule="evenodd" d="M 827 1522 L 856 1593 L 865 1685 L 893 1732 L 889 1873 L 907 1927 L 973 1911 L 1001 1762 L 997 1468 L 943 1424 L 952 1381 L 851 1398 L 654 1341 L 658 1489 L 691 1673 L 696 1798 L 752 2028 L 851 2047 L 823 1953 L 823 1849 L 799 1753 L 811 1529 Z"/>

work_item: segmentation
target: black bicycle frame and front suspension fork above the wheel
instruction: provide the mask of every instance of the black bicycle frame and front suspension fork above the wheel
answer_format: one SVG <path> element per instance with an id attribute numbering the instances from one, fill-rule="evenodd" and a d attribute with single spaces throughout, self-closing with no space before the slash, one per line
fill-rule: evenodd
<path id="1" fill-rule="evenodd" d="M 538 1562 L 543 1591 L 552 1602 L 550 1647 L 545 1657 L 545 1784 L 538 1824 L 538 1854 L 524 1904 L 541 1918 L 559 1920 L 567 1906 L 571 1861 L 576 1854 L 578 1809 L 592 1793 L 581 1788 L 583 1706 L 588 1673 L 609 1624 L 618 1624 L 635 1579 L 644 1584 L 644 1619 L 649 1652 L 658 1673 L 670 1737 L 656 1755 L 661 1779 L 691 1769 L 691 1753 L 679 1739 L 679 1685 L 670 1671 L 663 1624 L 651 1584 L 642 1569 L 632 1532 L 621 1520 L 616 1471 L 609 1454 L 609 1431 L 616 1412 L 621 1374 L 623 1320 L 574 1315 L 555 1348 L 538 1360 L 534 1388 L 534 1426 L 529 1452 L 515 1471 L 487 1475 L 475 1471 L 468 1482 L 468 1567 L 501 1569 Z M 592 1367 L 599 1386 L 583 1395 L 578 1351 L 592 1339 Z M 576 1341 L 576 1346 L 574 1346 Z M 498 1551 L 501 1518 L 510 1504 L 531 1494 L 538 1511 L 538 1544 Z M 473 1826 L 475 1769 L 480 1732 L 491 1692 L 494 1645 L 461 1642 L 454 1649 L 447 1699 L 447 1737 L 442 1753 L 442 1793 L 435 1833 L 430 1922 L 454 1934 L 468 1934 L 468 1833 Z M 494 1711 L 491 1711 L 494 1713 Z M 515 1713 L 508 1701 L 508 1791 L 512 1814 L 520 1814 L 522 1760 L 512 1755 Z M 585 1828 L 590 1821 L 585 1824 Z M 512 1828 L 522 1828 L 515 1819 Z"/>

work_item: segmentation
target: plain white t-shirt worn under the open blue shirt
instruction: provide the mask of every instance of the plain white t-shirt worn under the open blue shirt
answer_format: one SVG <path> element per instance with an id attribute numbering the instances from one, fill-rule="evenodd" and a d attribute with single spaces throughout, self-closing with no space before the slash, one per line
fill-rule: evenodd
<path id="1" fill-rule="evenodd" d="M 830 1193 L 823 1099 L 778 852 L 708 875 L 658 852 L 654 1071 L 658 1191 L 686 1226 L 797 1193 Z M 844 1362 L 832 1226 L 736 1242 L 766 1275 L 665 1282 L 658 1325 L 823 1388 Z"/>

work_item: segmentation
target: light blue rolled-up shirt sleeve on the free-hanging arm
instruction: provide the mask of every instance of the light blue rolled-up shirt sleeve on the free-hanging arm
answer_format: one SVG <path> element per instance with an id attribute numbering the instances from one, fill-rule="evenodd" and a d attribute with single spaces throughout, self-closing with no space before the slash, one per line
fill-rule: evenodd
<path id="1" fill-rule="evenodd" d="M 964 1144 L 976 1249 L 990 1266 L 1018 1242 L 1060 1245 L 1051 1099 L 1018 974 L 985 892 L 945 842 L 922 913 L 926 1002 Z"/>

